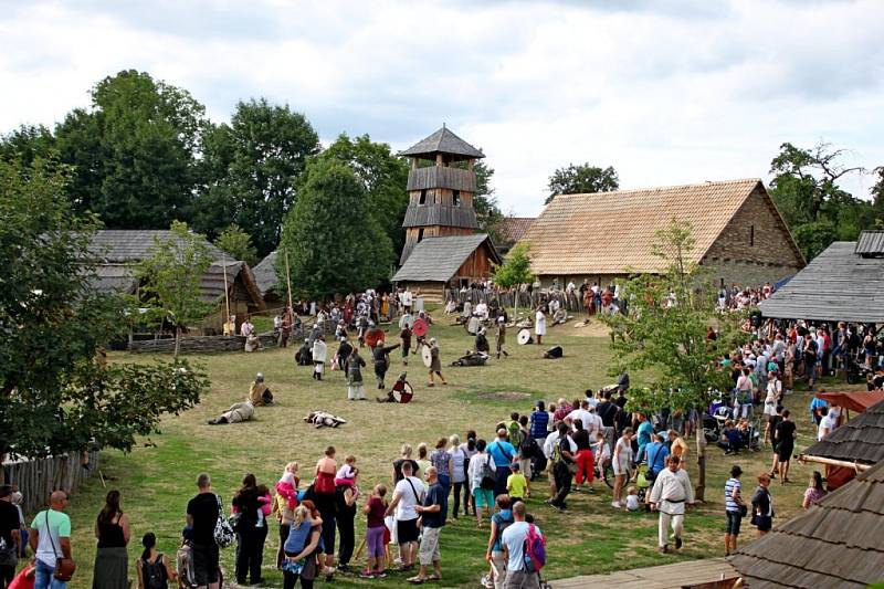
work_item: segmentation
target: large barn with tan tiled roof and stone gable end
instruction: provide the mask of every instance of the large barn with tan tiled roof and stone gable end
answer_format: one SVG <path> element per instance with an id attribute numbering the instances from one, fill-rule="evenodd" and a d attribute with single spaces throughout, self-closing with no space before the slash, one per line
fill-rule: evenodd
<path id="1" fill-rule="evenodd" d="M 659 273 L 652 254 L 672 219 L 691 223 L 691 261 L 715 269 L 716 283 L 760 285 L 791 276 L 804 259 L 761 180 L 561 194 L 522 238 L 544 285 L 583 280 L 607 285 L 628 270 Z"/>

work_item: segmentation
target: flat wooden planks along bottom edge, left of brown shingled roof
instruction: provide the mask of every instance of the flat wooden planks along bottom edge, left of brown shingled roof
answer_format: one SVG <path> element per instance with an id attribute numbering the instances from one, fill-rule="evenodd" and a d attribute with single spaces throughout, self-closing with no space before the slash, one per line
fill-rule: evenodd
<path id="1" fill-rule="evenodd" d="M 645 567 L 631 570 L 620 570 L 608 575 L 585 575 L 570 579 L 550 581 L 552 589 L 583 589 L 593 587 L 599 589 L 680 589 L 693 585 L 714 582 L 719 579 L 736 579 L 734 570 L 724 558 L 709 558 L 705 560 L 688 560 Z"/>

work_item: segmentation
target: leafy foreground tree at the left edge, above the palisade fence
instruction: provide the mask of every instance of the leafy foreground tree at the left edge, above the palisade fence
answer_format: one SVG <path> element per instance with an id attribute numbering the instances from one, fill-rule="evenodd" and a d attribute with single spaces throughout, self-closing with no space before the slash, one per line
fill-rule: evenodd
<path id="1" fill-rule="evenodd" d="M 130 450 L 164 413 L 199 402 L 186 362 L 114 364 L 96 353 L 125 326 L 123 301 L 94 288 L 98 221 L 66 198 L 70 168 L 0 161 L 0 457 Z"/>

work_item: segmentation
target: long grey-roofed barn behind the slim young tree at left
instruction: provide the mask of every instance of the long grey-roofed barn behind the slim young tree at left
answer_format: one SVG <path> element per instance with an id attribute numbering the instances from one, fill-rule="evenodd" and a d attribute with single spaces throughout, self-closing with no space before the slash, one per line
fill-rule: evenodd
<path id="1" fill-rule="evenodd" d="M 171 231 L 154 230 L 105 230 L 97 231 L 93 250 L 101 256 L 96 269 L 95 287 L 103 292 L 136 294 L 137 264 L 151 255 L 155 239 L 168 240 Z M 252 271 L 245 262 L 227 259 L 221 250 L 207 242 L 212 263 L 200 278 L 200 299 L 217 305 L 200 327 L 207 333 L 221 333 L 228 293 L 230 313 L 236 315 L 236 328 L 250 313 L 264 309 L 264 302 L 255 284 Z"/>

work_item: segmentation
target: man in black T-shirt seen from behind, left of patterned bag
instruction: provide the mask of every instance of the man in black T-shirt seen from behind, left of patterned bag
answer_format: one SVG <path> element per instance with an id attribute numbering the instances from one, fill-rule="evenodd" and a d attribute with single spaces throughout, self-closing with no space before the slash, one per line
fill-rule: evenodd
<path id="1" fill-rule="evenodd" d="M 219 589 L 218 544 L 214 526 L 221 511 L 221 497 L 212 493 L 208 473 L 197 476 L 199 493 L 187 504 L 187 524 L 191 528 L 193 578 L 198 589 Z"/>

